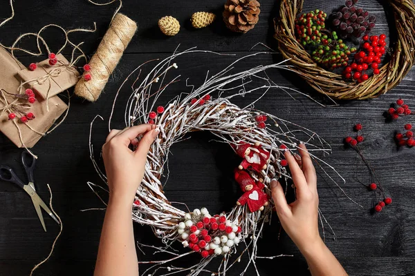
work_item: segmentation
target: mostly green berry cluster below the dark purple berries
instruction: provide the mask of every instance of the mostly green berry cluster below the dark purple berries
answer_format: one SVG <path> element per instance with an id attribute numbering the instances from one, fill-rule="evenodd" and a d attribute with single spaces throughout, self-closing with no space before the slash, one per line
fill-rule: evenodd
<path id="1" fill-rule="evenodd" d="M 311 57 L 315 63 L 321 64 L 322 67 L 331 70 L 347 66 L 349 55 L 356 52 L 356 48 L 349 48 L 343 43 L 342 39 L 338 39 L 336 32 L 331 33 L 333 39 L 326 34 L 322 36 L 322 43 L 311 52 Z"/>

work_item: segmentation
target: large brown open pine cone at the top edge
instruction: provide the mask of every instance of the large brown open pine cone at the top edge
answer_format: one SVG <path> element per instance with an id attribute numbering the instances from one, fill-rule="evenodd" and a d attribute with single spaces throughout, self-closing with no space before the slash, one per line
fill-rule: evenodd
<path id="1" fill-rule="evenodd" d="M 256 0 L 228 0 L 223 11 L 226 27 L 234 32 L 248 32 L 258 22 L 259 6 Z"/>

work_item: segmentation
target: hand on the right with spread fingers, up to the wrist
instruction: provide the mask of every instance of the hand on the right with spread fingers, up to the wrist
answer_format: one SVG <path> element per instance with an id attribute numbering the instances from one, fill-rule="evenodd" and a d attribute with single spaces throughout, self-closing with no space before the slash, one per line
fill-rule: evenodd
<path id="1" fill-rule="evenodd" d="M 318 194 L 317 176 L 313 161 L 304 144 L 299 145 L 301 158 L 295 159 L 291 152 L 285 152 L 288 166 L 296 188 L 297 199 L 287 204 L 284 190 L 275 179 L 271 181 L 271 190 L 275 209 L 282 227 L 293 239 L 300 251 L 312 249 L 322 239 L 318 231 Z M 302 165 L 300 168 L 299 164 Z"/>

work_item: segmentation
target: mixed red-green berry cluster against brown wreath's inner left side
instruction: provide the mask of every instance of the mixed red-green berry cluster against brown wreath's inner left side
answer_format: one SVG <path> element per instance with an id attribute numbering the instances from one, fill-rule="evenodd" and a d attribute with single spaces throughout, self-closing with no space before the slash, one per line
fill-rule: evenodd
<path id="1" fill-rule="evenodd" d="M 322 29 L 326 26 L 327 14 L 322 10 L 315 10 L 302 14 L 295 19 L 295 31 L 297 33 L 297 41 L 303 46 L 311 44 L 315 46 L 321 43 Z"/>

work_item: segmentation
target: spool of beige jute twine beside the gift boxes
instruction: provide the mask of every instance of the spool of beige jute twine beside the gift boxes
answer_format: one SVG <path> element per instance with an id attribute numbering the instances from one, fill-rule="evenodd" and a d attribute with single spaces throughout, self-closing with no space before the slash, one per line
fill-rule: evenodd
<path id="1" fill-rule="evenodd" d="M 97 52 L 89 62 L 91 70 L 84 72 L 84 74 L 90 74 L 92 79 L 86 81 L 82 77 L 75 86 L 75 95 L 88 101 L 96 101 L 100 97 L 109 76 L 116 68 L 136 30 L 136 22 L 124 14 L 116 14 L 102 38 Z"/>

